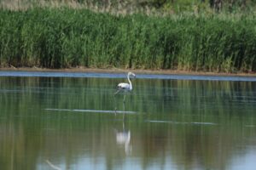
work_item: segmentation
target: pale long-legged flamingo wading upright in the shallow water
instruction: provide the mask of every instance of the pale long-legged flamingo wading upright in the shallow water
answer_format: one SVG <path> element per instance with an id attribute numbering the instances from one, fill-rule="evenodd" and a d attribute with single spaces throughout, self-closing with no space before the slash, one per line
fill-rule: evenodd
<path id="1" fill-rule="evenodd" d="M 125 95 L 126 93 L 128 92 L 131 92 L 132 90 L 132 84 L 131 84 L 131 80 L 130 80 L 130 77 L 136 77 L 136 75 L 133 73 L 133 72 L 128 72 L 127 74 L 127 80 L 129 83 L 126 83 L 126 82 L 120 82 L 118 85 L 117 85 L 117 91 L 114 93 L 114 97 L 116 94 L 119 94 L 119 92 L 124 92 Z M 124 95 L 124 99 L 123 99 L 123 106 L 124 106 L 124 116 L 123 116 L 123 119 L 125 118 L 125 95 Z M 115 107 L 115 111 L 116 111 L 116 107 Z M 116 114 L 116 112 L 115 112 Z"/>

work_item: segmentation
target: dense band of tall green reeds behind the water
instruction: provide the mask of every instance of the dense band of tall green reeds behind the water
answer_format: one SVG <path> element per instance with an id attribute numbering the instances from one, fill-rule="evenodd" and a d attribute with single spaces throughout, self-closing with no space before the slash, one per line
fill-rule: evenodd
<path id="1" fill-rule="evenodd" d="M 255 14 L 1 10 L 0 65 L 256 71 Z"/>

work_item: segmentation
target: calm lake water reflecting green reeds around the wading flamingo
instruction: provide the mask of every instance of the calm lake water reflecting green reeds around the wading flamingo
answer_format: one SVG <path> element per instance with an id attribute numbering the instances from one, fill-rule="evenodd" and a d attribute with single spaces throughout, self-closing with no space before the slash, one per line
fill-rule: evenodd
<path id="1" fill-rule="evenodd" d="M 255 77 L 137 75 L 125 105 L 119 82 L 0 71 L 0 169 L 255 169 Z"/>

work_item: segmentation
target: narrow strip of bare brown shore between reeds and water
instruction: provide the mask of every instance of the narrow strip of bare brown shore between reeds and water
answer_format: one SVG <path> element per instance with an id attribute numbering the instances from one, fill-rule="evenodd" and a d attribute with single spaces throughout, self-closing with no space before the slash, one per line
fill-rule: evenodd
<path id="1" fill-rule="evenodd" d="M 166 75 L 191 75 L 191 76 L 223 76 L 223 77 L 256 77 L 256 72 L 252 73 L 224 73 L 210 71 L 178 71 L 178 70 L 143 70 L 143 69 L 119 69 L 119 68 L 86 68 L 74 67 L 66 69 L 49 69 L 38 67 L 0 67 L 0 71 L 31 71 L 31 72 L 102 72 L 102 73 L 126 73 L 133 71 L 138 74 L 166 74 Z"/>

